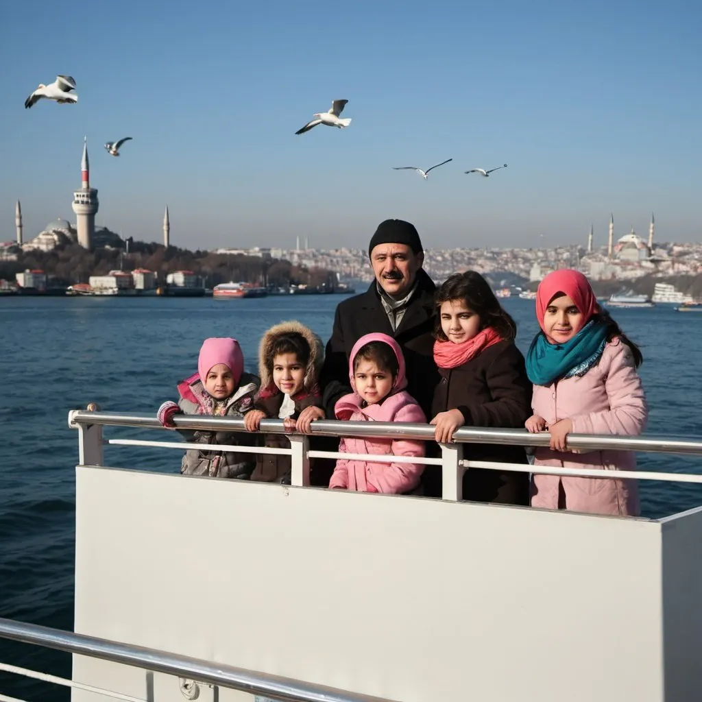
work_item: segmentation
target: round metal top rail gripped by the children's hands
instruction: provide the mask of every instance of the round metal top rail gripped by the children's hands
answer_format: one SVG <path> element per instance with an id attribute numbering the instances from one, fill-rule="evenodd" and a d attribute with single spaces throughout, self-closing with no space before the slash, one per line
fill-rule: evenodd
<path id="1" fill-rule="evenodd" d="M 223 417 L 176 415 L 173 423 L 179 429 L 207 431 L 246 431 L 243 419 Z M 123 414 L 117 412 L 92 412 L 74 410 L 69 413 L 69 426 L 78 425 L 121 426 L 143 429 L 164 429 L 154 416 Z M 315 420 L 312 422 L 312 435 L 336 437 L 372 437 L 393 439 L 434 440 L 435 428 L 429 424 L 393 422 L 348 422 L 339 420 Z M 283 434 L 284 425 L 280 419 L 265 419 L 260 423 L 260 433 Z M 459 444 L 508 444 L 512 446 L 548 446 L 548 432 L 531 434 L 526 429 L 495 429 L 461 427 L 453 434 Z M 682 439 L 668 436 L 622 436 L 602 434 L 569 434 L 569 449 L 600 451 L 647 451 L 650 453 L 683 453 L 702 456 L 702 437 Z"/>

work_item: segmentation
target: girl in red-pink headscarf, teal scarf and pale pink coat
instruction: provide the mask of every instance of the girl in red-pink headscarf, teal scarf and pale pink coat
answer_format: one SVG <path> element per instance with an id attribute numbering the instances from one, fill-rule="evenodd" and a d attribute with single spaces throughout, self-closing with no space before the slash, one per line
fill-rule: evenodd
<path id="1" fill-rule="evenodd" d="M 634 480 L 538 475 L 539 465 L 633 470 L 631 451 L 569 451 L 568 435 L 640 434 L 647 420 L 637 345 L 600 308 L 588 279 L 575 270 L 548 274 L 536 293 L 541 326 L 527 354 L 534 383 L 530 432 L 550 432 L 536 449 L 531 505 L 602 515 L 638 515 Z"/>

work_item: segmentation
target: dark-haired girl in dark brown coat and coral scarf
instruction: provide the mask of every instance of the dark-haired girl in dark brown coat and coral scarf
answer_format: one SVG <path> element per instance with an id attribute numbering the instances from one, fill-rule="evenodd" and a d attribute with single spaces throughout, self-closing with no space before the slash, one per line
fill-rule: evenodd
<path id="1" fill-rule="evenodd" d="M 434 392 L 431 424 L 437 442 L 450 442 L 463 425 L 522 428 L 531 416 L 531 383 L 515 346 L 517 326 L 490 285 L 469 270 L 453 274 L 436 293 L 434 359 L 441 382 Z M 463 444 L 472 461 L 527 463 L 522 446 Z M 468 468 L 463 499 L 529 504 L 529 474 Z"/>

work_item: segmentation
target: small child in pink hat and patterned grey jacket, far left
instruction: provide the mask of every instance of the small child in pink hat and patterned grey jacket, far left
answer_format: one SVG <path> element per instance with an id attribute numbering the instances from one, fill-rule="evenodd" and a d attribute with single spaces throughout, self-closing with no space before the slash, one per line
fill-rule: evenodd
<path id="1" fill-rule="evenodd" d="M 253 408 L 259 385 L 256 376 L 244 372 L 244 355 L 236 339 L 208 338 L 200 349 L 197 373 L 178 383 L 178 404 L 164 402 L 157 417 L 168 428 L 175 427 L 173 416 L 178 413 L 242 417 Z M 194 444 L 256 444 L 256 437 L 244 432 L 179 431 Z M 192 449 L 185 452 L 180 472 L 248 479 L 255 465 L 254 453 Z"/>

